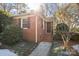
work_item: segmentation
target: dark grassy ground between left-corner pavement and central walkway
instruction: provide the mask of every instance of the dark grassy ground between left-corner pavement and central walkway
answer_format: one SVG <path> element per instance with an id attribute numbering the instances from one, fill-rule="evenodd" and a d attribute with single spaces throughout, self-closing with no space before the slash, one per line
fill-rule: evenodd
<path id="1" fill-rule="evenodd" d="M 21 41 L 11 46 L 2 45 L 1 49 L 9 49 L 18 56 L 28 56 L 35 49 L 36 46 L 36 43 Z"/>

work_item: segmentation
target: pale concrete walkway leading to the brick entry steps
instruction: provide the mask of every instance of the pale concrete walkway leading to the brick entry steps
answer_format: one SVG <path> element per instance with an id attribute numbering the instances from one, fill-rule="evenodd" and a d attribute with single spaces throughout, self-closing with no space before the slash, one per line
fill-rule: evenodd
<path id="1" fill-rule="evenodd" d="M 51 46 L 51 42 L 40 42 L 39 45 L 29 56 L 47 56 Z"/>

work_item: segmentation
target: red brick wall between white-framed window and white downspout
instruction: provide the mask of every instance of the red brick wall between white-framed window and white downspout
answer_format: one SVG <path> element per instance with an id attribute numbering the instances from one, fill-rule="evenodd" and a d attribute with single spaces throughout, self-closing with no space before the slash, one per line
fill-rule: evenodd
<path id="1" fill-rule="evenodd" d="M 24 39 L 28 41 L 35 41 L 35 16 L 29 17 L 30 28 L 23 29 Z"/>

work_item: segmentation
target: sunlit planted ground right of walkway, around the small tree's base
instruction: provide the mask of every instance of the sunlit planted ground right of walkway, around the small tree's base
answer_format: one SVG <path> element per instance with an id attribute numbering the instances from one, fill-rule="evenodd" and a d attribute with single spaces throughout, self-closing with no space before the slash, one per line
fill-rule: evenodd
<path id="1" fill-rule="evenodd" d="M 79 53 L 75 51 L 72 46 L 79 44 L 79 42 L 69 42 L 69 49 L 63 49 L 62 41 L 54 41 L 49 52 L 49 56 L 78 56 Z"/>

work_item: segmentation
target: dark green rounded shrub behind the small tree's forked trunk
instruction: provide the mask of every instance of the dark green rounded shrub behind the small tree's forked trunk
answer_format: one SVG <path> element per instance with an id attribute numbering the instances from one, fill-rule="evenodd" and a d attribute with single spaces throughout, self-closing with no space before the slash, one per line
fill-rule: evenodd
<path id="1" fill-rule="evenodd" d="M 61 36 L 64 35 L 64 34 L 62 34 L 64 32 L 69 32 L 69 27 L 65 23 L 57 24 L 57 26 L 56 26 L 57 39 L 62 39 Z M 65 37 L 66 36 L 67 35 L 65 34 Z"/>

